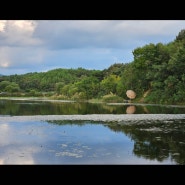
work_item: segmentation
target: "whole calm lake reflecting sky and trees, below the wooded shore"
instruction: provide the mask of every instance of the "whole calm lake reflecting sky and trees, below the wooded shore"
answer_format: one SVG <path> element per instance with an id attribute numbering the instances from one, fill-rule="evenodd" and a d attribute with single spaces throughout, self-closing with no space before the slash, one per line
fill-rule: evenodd
<path id="1" fill-rule="evenodd" d="M 0 164 L 185 164 L 185 106 L 0 99 Z"/>

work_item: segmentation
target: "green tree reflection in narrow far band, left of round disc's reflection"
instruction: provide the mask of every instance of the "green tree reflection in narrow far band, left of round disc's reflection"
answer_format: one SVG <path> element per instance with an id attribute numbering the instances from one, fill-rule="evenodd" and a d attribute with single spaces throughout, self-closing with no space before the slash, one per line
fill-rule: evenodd
<path id="1" fill-rule="evenodd" d="M 122 107 L 79 102 L 0 100 L 2 115 L 121 114 Z"/>

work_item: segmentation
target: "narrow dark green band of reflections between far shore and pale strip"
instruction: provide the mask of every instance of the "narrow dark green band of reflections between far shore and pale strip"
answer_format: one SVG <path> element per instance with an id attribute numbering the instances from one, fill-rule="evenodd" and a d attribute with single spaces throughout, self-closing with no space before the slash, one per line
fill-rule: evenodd
<path id="1" fill-rule="evenodd" d="M 185 106 L 0 100 L 0 115 L 184 114 Z"/>

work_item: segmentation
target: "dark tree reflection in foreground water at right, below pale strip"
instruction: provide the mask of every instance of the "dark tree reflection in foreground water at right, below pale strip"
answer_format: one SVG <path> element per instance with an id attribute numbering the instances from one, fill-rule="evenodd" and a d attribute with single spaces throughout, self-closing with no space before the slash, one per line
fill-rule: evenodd
<path id="1" fill-rule="evenodd" d="M 138 157 L 163 161 L 167 158 L 185 164 L 185 121 L 145 121 L 110 124 L 116 132 L 124 132 L 135 141 L 133 153 Z"/>

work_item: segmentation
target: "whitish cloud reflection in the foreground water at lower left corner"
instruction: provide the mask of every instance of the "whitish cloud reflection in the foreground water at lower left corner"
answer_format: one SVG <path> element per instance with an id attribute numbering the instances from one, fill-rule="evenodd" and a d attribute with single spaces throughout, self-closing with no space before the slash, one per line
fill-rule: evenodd
<path id="1" fill-rule="evenodd" d="M 3 117 L 5 120 L 8 117 Z M 1 118 L 0 118 L 1 119 Z M 36 142 L 36 136 L 41 136 L 43 129 L 32 132 L 32 126 L 22 125 L 16 127 L 6 121 L 0 120 L 0 164 L 34 164 L 33 155 L 40 152 L 40 146 L 27 145 L 32 138 Z M 17 129 L 18 128 L 18 129 Z M 29 137 L 28 133 L 33 135 Z M 43 137 L 43 135 L 42 135 Z"/>

